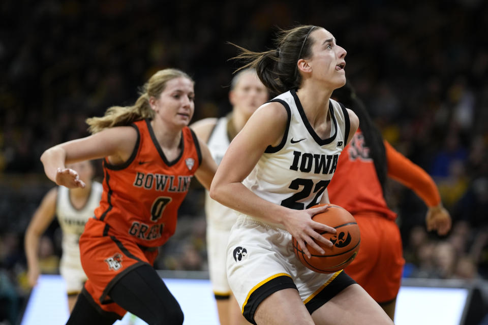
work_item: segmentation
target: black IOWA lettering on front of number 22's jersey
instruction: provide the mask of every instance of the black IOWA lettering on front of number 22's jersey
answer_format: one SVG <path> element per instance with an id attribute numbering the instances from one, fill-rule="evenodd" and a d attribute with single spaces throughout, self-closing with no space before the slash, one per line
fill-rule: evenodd
<path id="1" fill-rule="evenodd" d="M 292 171 L 314 174 L 333 174 L 337 168 L 339 154 L 312 154 L 293 151 Z"/>

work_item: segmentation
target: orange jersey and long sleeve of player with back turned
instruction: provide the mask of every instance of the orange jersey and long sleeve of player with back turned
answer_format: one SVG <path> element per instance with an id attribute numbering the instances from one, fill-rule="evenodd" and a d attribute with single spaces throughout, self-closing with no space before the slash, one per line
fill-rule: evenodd
<path id="1" fill-rule="evenodd" d="M 439 191 L 432 178 L 407 157 L 384 141 L 388 177 L 409 187 L 429 207 L 440 203 Z M 351 214 L 377 213 L 394 220 L 396 213 L 386 205 L 370 149 L 358 128 L 339 156 L 337 170 L 327 187 L 329 200 Z"/>

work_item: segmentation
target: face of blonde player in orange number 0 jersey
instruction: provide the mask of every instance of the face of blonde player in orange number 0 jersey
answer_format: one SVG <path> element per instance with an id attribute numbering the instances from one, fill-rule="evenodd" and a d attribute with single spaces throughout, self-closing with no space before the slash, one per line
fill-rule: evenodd
<path id="1" fill-rule="evenodd" d="M 166 82 L 159 98 L 151 98 L 151 107 L 158 118 L 176 127 L 188 125 L 195 111 L 193 81 L 178 77 Z"/>

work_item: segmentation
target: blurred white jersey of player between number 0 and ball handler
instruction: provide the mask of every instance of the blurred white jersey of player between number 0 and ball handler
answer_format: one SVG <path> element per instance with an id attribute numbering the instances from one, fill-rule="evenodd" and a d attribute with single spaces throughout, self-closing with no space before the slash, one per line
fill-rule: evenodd
<path id="1" fill-rule="evenodd" d="M 207 141 L 208 149 L 217 165 L 220 164 L 230 145 L 229 135 L 227 133 L 228 121 L 229 119 L 227 117 L 219 118 Z M 220 230 L 230 230 L 237 219 L 234 210 L 212 200 L 208 195 L 208 191 L 206 191 L 205 197 L 205 214 L 208 226 Z"/>

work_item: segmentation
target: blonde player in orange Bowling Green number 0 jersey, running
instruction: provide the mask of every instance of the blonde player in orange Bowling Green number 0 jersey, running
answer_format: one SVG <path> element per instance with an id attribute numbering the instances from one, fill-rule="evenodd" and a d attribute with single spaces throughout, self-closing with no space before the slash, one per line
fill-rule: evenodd
<path id="1" fill-rule="evenodd" d="M 88 280 L 67 324 L 112 324 L 126 311 L 150 325 L 183 322 L 153 263 L 175 231 L 193 176 L 209 188 L 217 168 L 187 126 L 194 108 L 194 81 L 182 71 L 161 70 L 133 106 L 87 119 L 92 136 L 42 154 L 46 175 L 69 188 L 85 184 L 65 164 L 104 158 L 100 206 L 79 242 Z"/>

